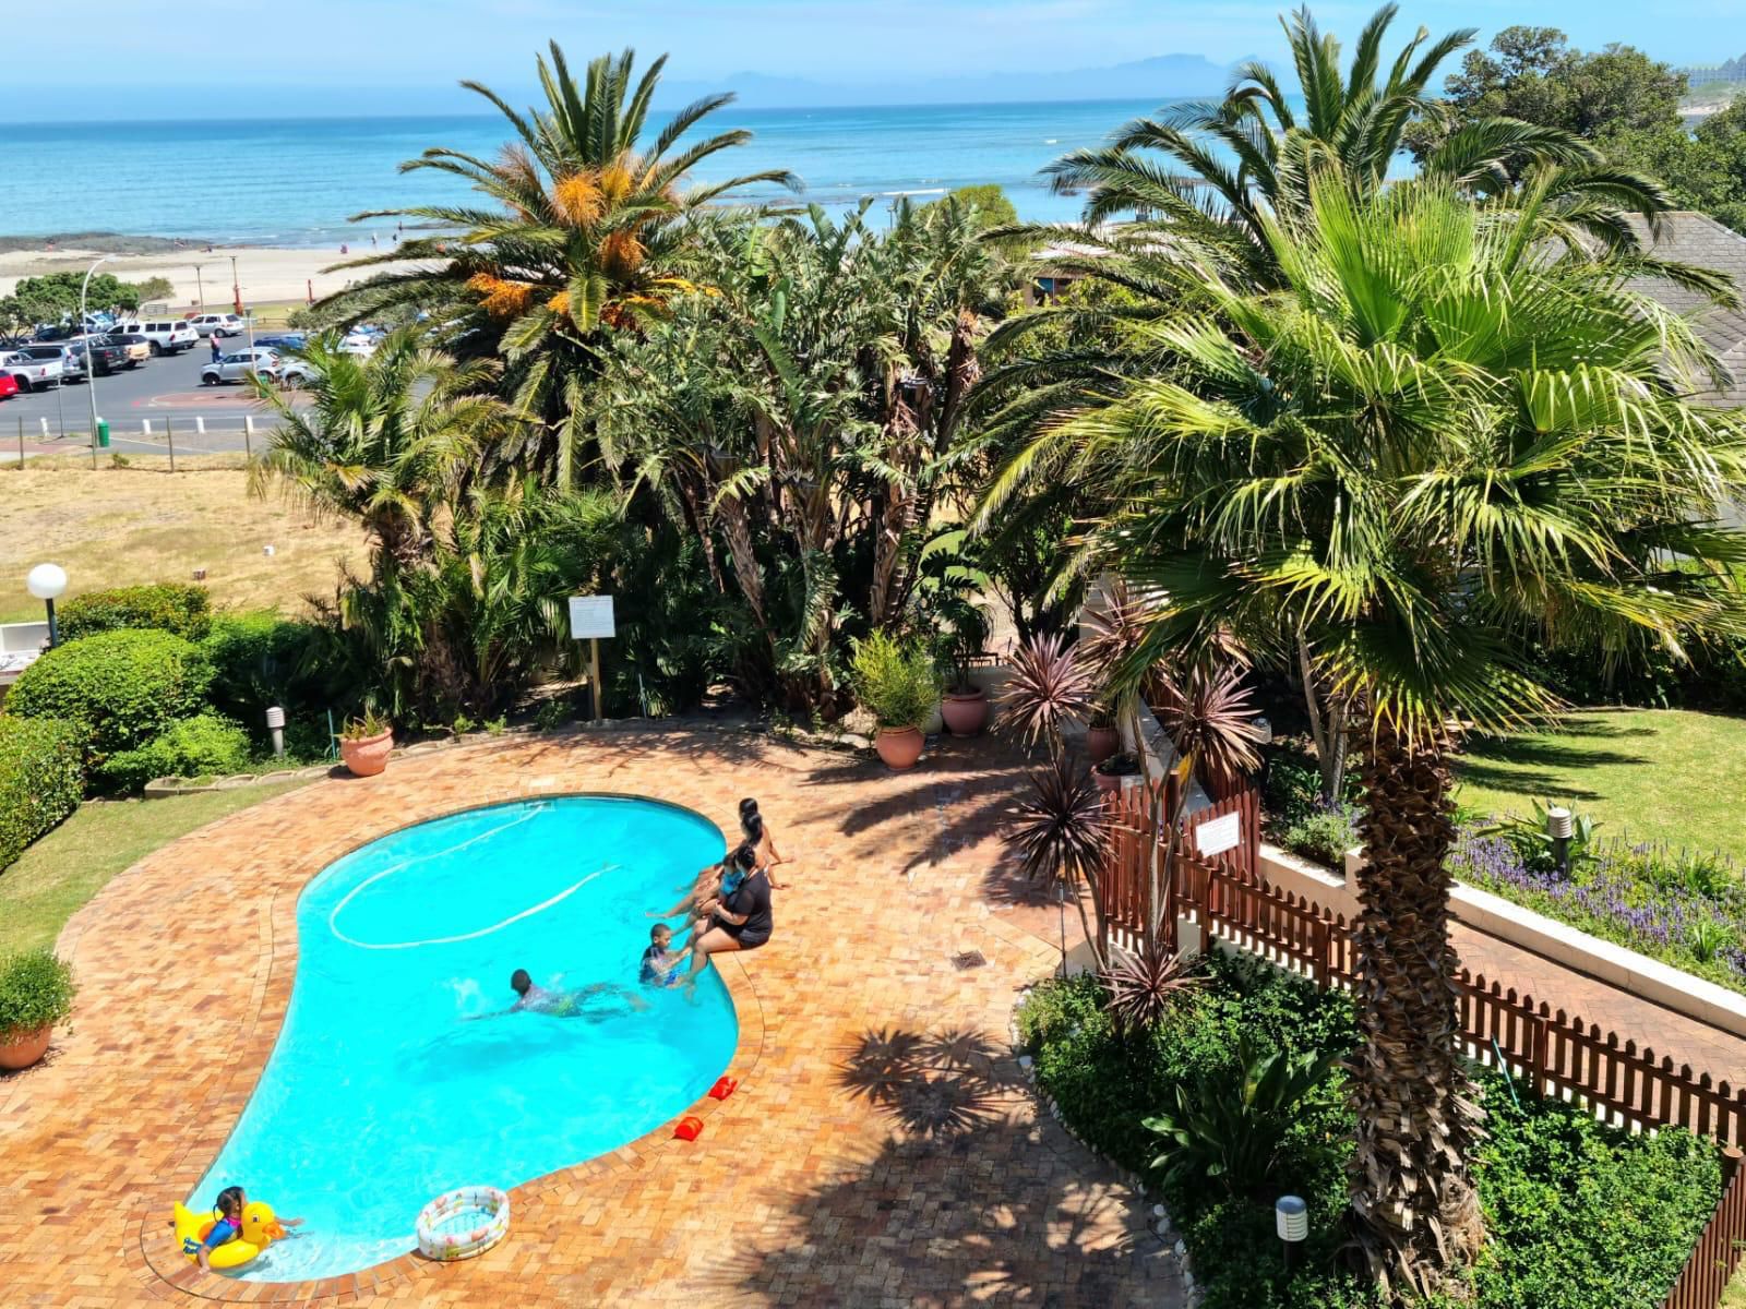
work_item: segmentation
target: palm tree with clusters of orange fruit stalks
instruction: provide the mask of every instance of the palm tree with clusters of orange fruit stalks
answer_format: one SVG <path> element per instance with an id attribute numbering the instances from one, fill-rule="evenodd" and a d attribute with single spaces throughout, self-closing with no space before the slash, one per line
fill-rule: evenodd
<path id="1" fill-rule="evenodd" d="M 463 82 L 508 119 L 515 140 L 496 159 L 431 148 L 402 171 L 464 178 L 485 204 L 358 215 L 440 230 L 342 265 L 419 262 L 328 302 L 349 321 L 395 309 L 442 309 L 457 318 L 459 340 L 506 361 L 503 394 L 534 421 L 522 429 L 524 445 L 494 457 L 564 485 L 578 473 L 583 393 L 599 374 L 601 347 L 615 330 L 658 318 L 674 295 L 691 288 L 683 274 L 702 206 L 754 183 L 798 187 L 791 173 L 765 169 L 686 188 L 693 168 L 744 145 L 751 133 L 684 143 L 693 127 L 732 103 L 732 94 L 719 94 L 679 110 L 644 141 L 665 56 L 641 77 L 634 77 L 634 63 L 632 51 L 616 59 L 601 56 L 578 86 L 552 42 L 550 63 L 538 61 L 546 103 L 526 113 L 491 87 Z"/>

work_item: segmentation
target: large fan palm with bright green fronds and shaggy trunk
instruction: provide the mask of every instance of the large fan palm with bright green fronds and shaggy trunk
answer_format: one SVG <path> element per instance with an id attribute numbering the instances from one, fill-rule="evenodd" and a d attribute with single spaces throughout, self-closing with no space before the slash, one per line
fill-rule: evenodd
<path id="1" fill-rule="evenodd" d="M 1304 642 L 1365 754 L 1351 1206 L 1378 1274 L 1433 1286 L 1479 1239 L 1446 857 L 1463 726 L 1554 714 L 1529 639 L 1629 658 L 1743 630 L 1716 525 L 1746 422 L 1617 269 L 1547 262 L 1447 185 L 1311 182 L 1261 223 L 1276 291 L 1206 271 L 1179 361 L 1042 442 L 1112 487 L 1093 562 L 1154 599 L 1130 675 L 1229 632 Z"/>

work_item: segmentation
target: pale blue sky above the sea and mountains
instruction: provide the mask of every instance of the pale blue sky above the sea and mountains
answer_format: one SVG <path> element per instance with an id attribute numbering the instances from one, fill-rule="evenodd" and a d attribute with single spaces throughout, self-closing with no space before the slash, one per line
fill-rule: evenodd
<path id="1" fill-rule="evenodd" d="M 100 99 L 107 93 L 98 87 L 215 93 L 253 86 L 274 94 L 293 87 L 351 94 L 370 112 L 382 112 L 395 94 L 407 112 L 466 106 L 449 91 L 457 79 L 520 89 L 529 84 L 533 51 L 548 37 L 578 58 L 625 44 L 644 54 L 665 49 L 672 52 L 669 75 L 683 80 L 753 70 L 859 84 L 896 73 L 1027 73 L 1173 52 L 1227 63 L 1278 54 L 1282 7 L 1217 0 L 293 0 L 251 10 L 86 0 L 77 9 L 96 21 L 80 21 L 77 56 L 58 31 L 56 58 L 42 63 L 28 58 L 30 26 L 52 7 L 24 10 L 35 17 L 26 19 L 23 42 L 12 44 L 0 117 L 17 117 L 19 101 L 30 96 L 73 94 L 73 68 L 84 75 L 80 96 Z M 1367 0 L 1318 3 L 1315 12 L 1325 28 L 1350 35 L 1372 7 Z M 1489 37 L 1509 23 L 1536 23 L 1564 28 L 1582 47 L 1624 40 L 1687 63 L 1746 52 L 1743 19 L 1746 0 L 1407 0 L 1397 30 L 1477 26 Z M 1014 91 L 1014 99 L 1025 98 L 1021 86 Z M 215 112 L 236 110 L 215 105 Z"/>

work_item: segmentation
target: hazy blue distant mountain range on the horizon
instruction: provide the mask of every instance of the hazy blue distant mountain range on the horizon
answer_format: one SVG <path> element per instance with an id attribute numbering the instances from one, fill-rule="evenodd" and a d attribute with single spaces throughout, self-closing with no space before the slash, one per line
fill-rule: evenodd
<path id="1" fill-rule="evenodd" d="M 973 77 L 892 77 L 882 82 L 814 82 L 801 77 L 732 73 L 709 80 L 662 82 L 658 108 L 733 91 L 746 108 L 840 108 L 847 105 L 990 105 L 1056 99 L 1175 99 L 1217 96 L 1231 68 L 1200 54 L 1158 54 L 1109 68 L 1048 73 L 978 73 Z"/>

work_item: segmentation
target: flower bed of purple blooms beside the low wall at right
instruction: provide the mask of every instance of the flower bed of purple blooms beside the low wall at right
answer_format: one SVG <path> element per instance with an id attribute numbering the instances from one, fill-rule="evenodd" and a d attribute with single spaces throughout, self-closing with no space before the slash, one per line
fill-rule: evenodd
<path id="1" fill-rule="evenodd" d="M 1566 876 L 1470 829 L 1449 867 L 1470 887 L 1746 993 L 1746 883 L 1727 860 L 1613 843 Z"/>

